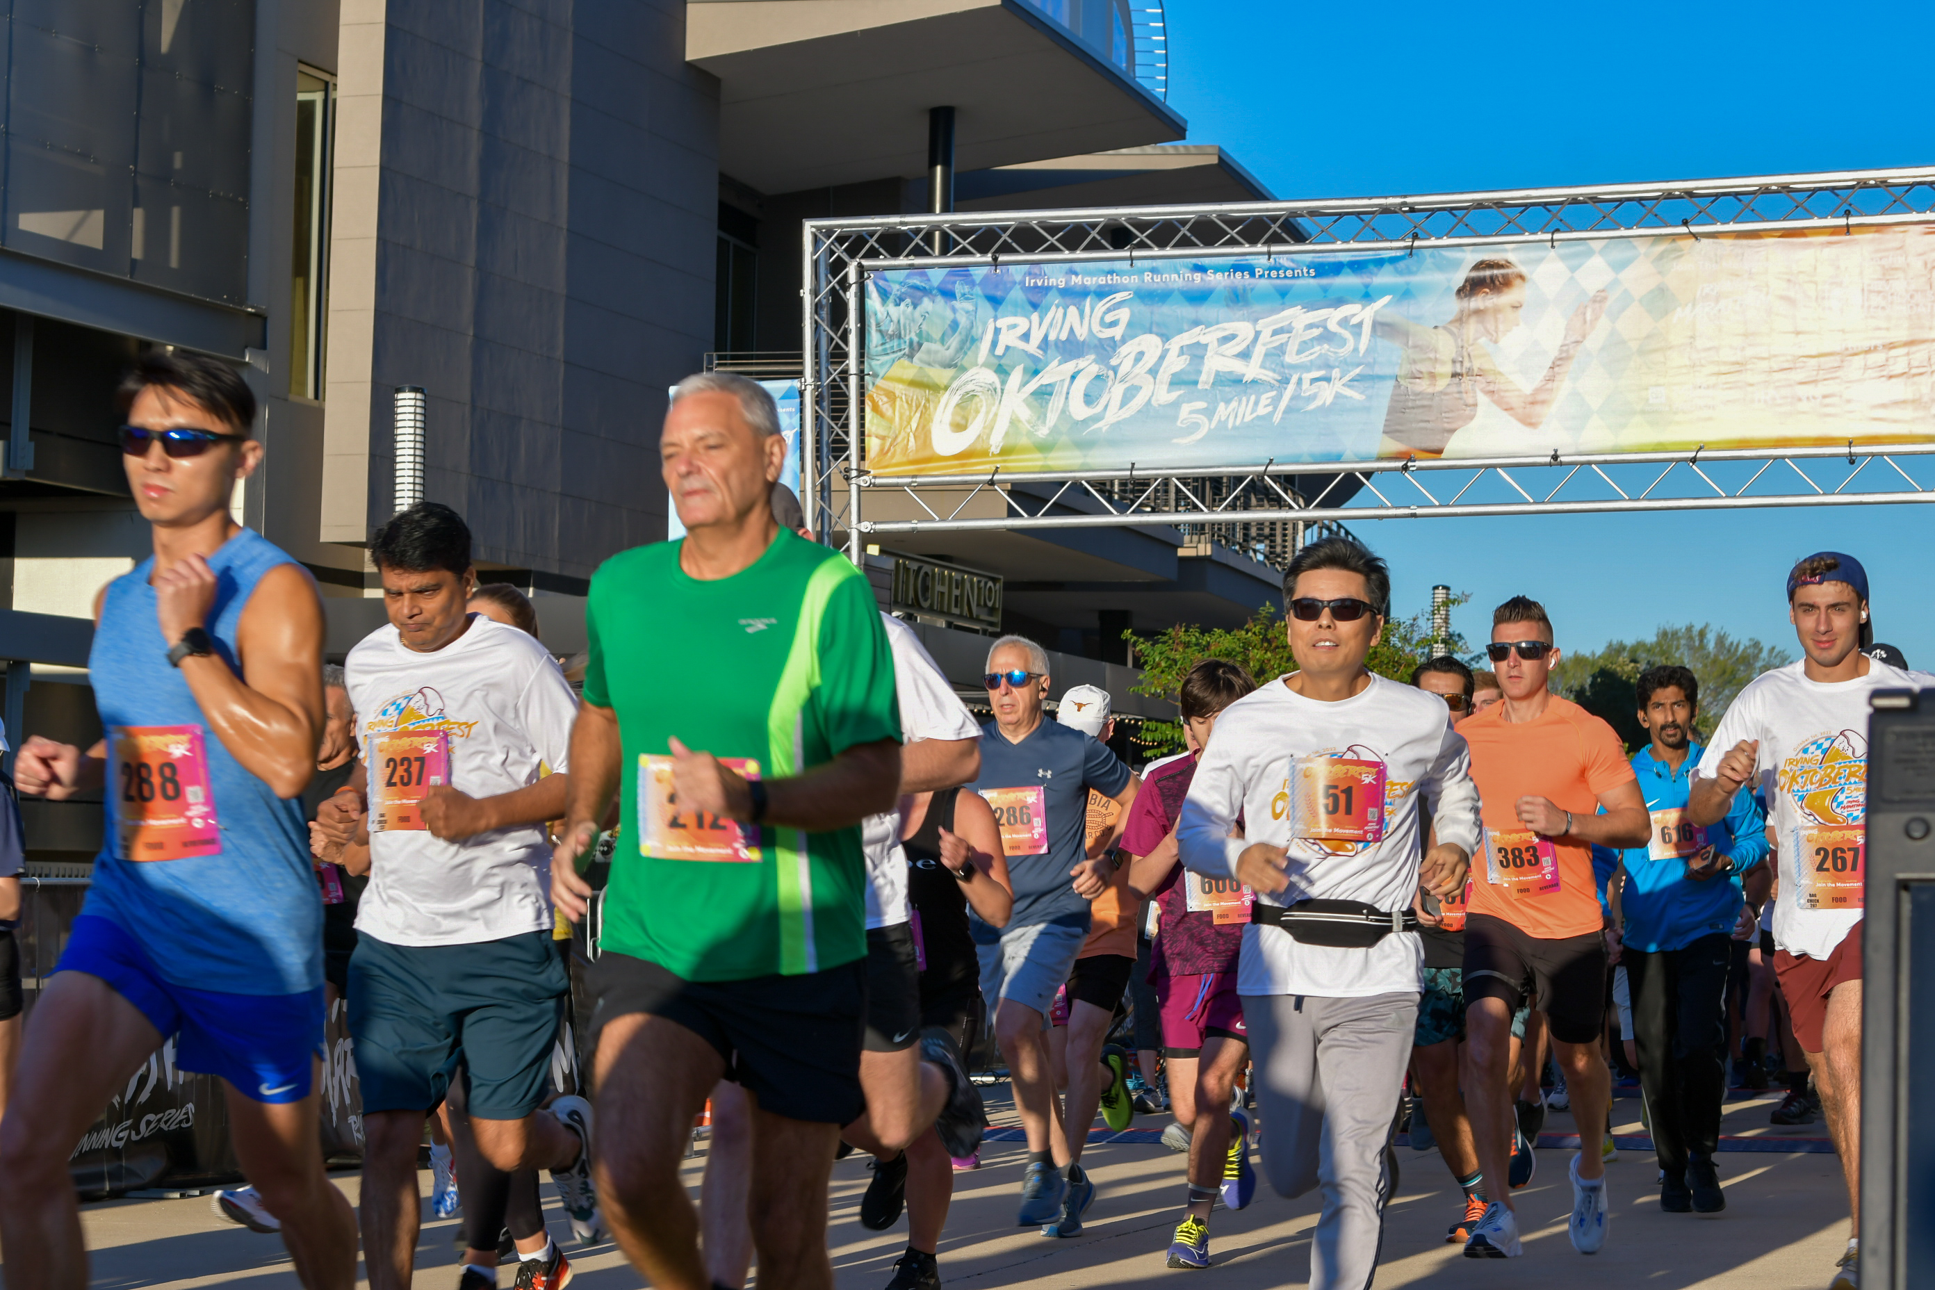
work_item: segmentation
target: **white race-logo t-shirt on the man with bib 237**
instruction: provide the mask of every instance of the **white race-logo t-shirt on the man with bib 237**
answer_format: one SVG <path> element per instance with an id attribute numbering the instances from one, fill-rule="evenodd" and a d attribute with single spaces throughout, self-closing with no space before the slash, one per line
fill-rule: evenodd
<path id="1" fill-rule="evenodd" d="M 579 700 L 526 632 L 472 615 L 433 654 L 395 627 L 370 632 L 342 665 L 370 768 L 370 888 L 356 930 L 395 946 L 464 946 L 551 930 L 551 843 L 538 824 L 443 841 L 422 828 L 377 830 L 379 795 L 428 772 L 402 768 L 402 735 L 443 735 L 449 783 L 470 797 L 515 793 L 540 768 L 569 770 Z M 385 743 L 391 741 L 391 743 Z M 391 756 L 385 756 L 389 752 Z"/>

